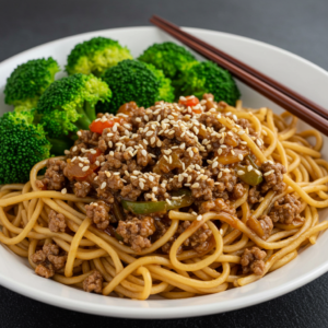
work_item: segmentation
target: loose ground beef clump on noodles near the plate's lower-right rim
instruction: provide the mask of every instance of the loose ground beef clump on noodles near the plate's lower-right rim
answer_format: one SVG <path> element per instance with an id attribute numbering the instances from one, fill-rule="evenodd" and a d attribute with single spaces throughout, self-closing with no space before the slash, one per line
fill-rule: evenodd
<path id="1" fill-rule="evenodd" d="M 241 259 L 243 268 L 243 274 L 255 273 L 262 276 L 265 273 L 266 263 L 263 258 L 267 256 L 265 250 L 260 250 L 258 247 L 246 248 Z"/>

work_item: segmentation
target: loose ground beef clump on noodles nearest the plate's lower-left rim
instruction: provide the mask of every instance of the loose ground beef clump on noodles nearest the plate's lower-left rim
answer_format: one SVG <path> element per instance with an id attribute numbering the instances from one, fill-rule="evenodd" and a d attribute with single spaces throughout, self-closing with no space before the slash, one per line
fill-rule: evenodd
<path id="1" fill-rule="evenodd" d="M 56 244 L 45 244 L 42 250 L 31 256 L 31 260 L 37 265 L 35 272 L 38 276 L 50 278 L 65 267 L 67 253 L 60 251 Z"/>

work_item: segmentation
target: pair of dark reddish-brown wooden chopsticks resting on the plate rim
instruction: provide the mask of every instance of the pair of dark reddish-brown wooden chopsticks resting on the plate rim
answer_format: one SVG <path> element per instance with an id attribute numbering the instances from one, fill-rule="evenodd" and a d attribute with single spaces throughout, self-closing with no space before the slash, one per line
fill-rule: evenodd
<path id="1" fill-rule="evenodd" d="M 226 52 L 184 32 L 178 26 L 157 15 L 153 15 L 150 22 L 174 36 L 196 52 L 229 70 L 239 81 L 328 136 L 328 110 L 324 107 L 313 103 L 311 99 L 262 74 Z"/>

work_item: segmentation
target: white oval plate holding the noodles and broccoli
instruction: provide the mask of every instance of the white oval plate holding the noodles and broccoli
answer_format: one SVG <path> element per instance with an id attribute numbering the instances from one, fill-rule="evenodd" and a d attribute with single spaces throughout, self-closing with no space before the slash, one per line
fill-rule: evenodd
<path id="1" fill-rule="evenodd" d="M 186 31 L 328 108 L 328 73 L 319 67 L 291 52 L 249 38 L 198 28 L 186 28 Z M 3 86 L 5 79 L 17 65 L 28 59 L 52 56 L 63 67 L 67 55 L 75 44 L 99 35 L 118 39 L 122 45 L 127 45 L 136 57 L 153 43 L 171 39 L 154 27 L 116 28 L 67 37 L 16 55 L 0 63 L 0 113 L 10 109 L 3 105 Z M 238 85 L 247 106 L 269 106 L 280 110 L 278 106 L 253 90 L 242 83 Z M 328 143 L 327 138 L 325 139 L 323 153 L 327 154 Z M 320 218 L 327 218 L 327 210 L 321 211 Z M 302 251 L 302 255 L 291 263 L 249 285 L 189 300 L 132 301 L 87 294 L 37 277 L 26 260 L 0 246 L 0 283 L 40 302 L 96 315 L 124 318 L 191 317 L 258 304 L 308 283 L 328 271 L 326 249 L 328 249 L 327 233 L 319 237 L 316 245 Z"/>

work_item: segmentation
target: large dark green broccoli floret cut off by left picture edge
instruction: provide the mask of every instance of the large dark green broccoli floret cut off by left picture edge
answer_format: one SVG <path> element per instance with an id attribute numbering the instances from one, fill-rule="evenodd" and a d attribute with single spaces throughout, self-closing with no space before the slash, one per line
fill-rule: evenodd
<path id="1" fill-rule="evenodd" d="M 31 168 L 50 156 L 50 142 L 32 112 L 10 112 L 0 118 L 0 184 L 25 183 Z"/>

